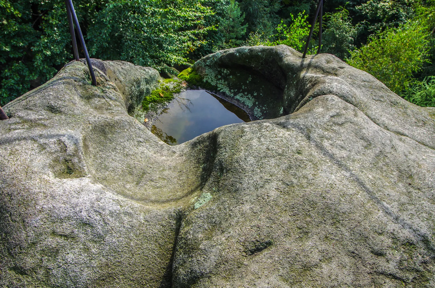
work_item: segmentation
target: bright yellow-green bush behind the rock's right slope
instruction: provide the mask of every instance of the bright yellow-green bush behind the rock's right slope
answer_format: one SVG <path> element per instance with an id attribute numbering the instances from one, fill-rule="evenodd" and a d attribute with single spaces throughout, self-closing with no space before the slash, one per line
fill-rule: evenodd
<path id="1" fill-rule="evenodd" d="M 421 69 L 428 54 L 428 32 L 418 21 L 390 28 L 351 52 L 348 64 L 364 70 L 400 93 Z"/>

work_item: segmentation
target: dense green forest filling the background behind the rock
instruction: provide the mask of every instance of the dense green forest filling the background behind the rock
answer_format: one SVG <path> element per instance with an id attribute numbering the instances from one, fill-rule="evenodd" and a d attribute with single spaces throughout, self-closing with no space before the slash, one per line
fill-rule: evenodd
<path id="1" fill-rule="evenodd" d="M 317 0 L 74 0 L 90 57 L 161 72 L 217 50 L 302 51 Z M 325 0 L 321 53 L 435 106 L 435 0 Z M 0 0 L 0 104 L 73 60 L 64 0 Z M 309 51 L 317 50 L 318 25 Z M 80 53 L 80 57 L 84 57 Z"/>

